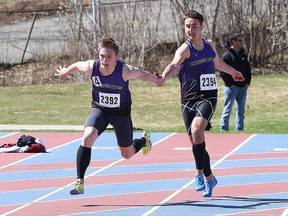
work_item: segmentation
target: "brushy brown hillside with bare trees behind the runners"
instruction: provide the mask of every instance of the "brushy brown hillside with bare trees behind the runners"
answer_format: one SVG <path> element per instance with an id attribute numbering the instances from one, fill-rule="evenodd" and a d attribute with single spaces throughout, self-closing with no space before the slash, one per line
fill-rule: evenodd
<path id="1" fill-rule="evenodd" d="M 25 0 L 16 2 L 2 0 L 1 26 L 26 21 L 30 28 L 35 14 L 37 14 L 36 23 L 40 18 L 48 20 L 51 17 L 57 18 L 55 26 L 61 29 L 59 34 L 65 44 L 60 47 L 61 53 L 57 55 L 41 53 L 22 63 L 20 61 L 1 62 L 2 85 L 9 85 L 7 74 L 12 76 L 11 79 L 13 78 L 13 73 L 17 71 L 15 65 L 21 67 L 23 71 L 30 70 L 30 75 L 35 73 L 35 70 L 38 71 L 37 73 L 41 70 L 47 74 L 47 68 L 51 71 L 53 67 L 54 70 L 63 62 L 63 59 L 67 63 L 76 59 L 94 58 L 97 55 L 97 43 L 103 36 L 110 36 L 117 41 L 122 48 L 122 57 L 127 62 L 146 70 L 161 72 L 171 60 L 176 48 L 185 40 L 182 17 L 187 9 L 195 9 L 204 15 L 203 34 L 216 41 L 220 54 L 225 50 L 229 35 L 240 32 L 244 35 L 245 49 L 253 66 L 253 73 L 270 74 L 288 71 L 287 0 L 61 0 L 57 3 Z M 3 17 L 8 18 L 3 19 Z M 29 28 L 26 30 L 26 35 L 29 31 L 33 33 L 34 29 Z M 35 35 L 33 37 L 33 40 L 37 40 Z M 47 60 L 49 62 L 44 66 L 43 62 Z M 40 62 L 42 66 L 39 65 Z M 45 80 L 40 83 L 53 81 L 50 75 L 53 76 L 49 72 Z M 22 74 L 22 78 L 23 76 Z M 41 74 L 37 76 L 40 79 Z M 3 82 L 3 77 L 6 82 Z M 30 84 L 36 83 L 36 80 L 30 81 Z"/>

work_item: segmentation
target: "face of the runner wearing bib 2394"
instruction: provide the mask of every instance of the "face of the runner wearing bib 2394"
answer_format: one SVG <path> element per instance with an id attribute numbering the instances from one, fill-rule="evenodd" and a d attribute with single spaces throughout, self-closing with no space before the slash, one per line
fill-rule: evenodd
<path id="1" fill-rule="evenodd" d="M 201 31 L 203 29 L 203 26 L 200 24 L 198 19 L 185 19 L 184 25 L 185 34 L 187 35 L 189 40 L 195 41 L 201 38 Z"/>

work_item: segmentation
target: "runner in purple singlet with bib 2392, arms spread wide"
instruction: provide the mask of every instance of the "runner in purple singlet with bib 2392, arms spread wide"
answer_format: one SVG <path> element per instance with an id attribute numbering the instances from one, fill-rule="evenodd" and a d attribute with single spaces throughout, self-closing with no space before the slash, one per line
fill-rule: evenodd
<path id="1" fill-rule="evenodd" d="M 60 66 L 55 74 L 65 79 L 70 73 L 83 71 L 92 81 L 92 111 L 77 151 L 77 180 L 70 190 L 71 195 L 84 193 L 84 175 L 91 160 L 91 148 L 108 124 L 113 126 L 125 159 L 140 150 L 148 154 L 152 147 L 148 131 L 144 131 L 140 139 L 133 139 L 129 80 L 139 79 L 161 86 L 163 79 L 120 60 L 119 47 L 112 38 L 101 40 L 98 51 L 98 59 L 76 62 L 67 68 Z"/>

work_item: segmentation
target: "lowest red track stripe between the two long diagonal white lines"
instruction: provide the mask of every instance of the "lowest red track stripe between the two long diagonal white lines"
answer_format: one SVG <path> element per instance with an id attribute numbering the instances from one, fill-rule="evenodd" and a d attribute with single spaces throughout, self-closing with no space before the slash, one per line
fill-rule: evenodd
<path id="1" fill-rule="evenodd" d="M 139 194 L 119 194 L 113 196 L 81 198 L 77 196 L 74 199 L 64 201 L 50 201 L 33 203 L 13 216 L 23 215 L 65 215 L 85 212 L 101 212 L 105 210 L 119 210 L 125 208 L 153 206 L 167 197 L 171 191 L 149 192 Z M 0 212 L 2 208 L 0 207 Z"/>

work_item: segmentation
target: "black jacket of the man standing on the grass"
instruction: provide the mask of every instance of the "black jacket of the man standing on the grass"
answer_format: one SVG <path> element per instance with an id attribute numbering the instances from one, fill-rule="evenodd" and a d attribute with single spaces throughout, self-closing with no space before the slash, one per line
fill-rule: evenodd
<path id="1" fill-rule="evenodd" d="M 251 67 L 247 59 L 247 55 L 244 53 L 244 49 L 240 49 L 239 52 L 235 52 L 234 49 L 228 48 L 228 50 L 222 55 L 222 60 L 226 62 L 231 67 L 240 71 L 245 80 L 244 81 L 234 81 L 230 74 L 223 71 L 220 72 L 220 77 L 223 79 L 225 86 L 230 87 L 232 85 L 238 87 L 244 87 L 247 84 L 250 85 L 251 82 Z"/>

